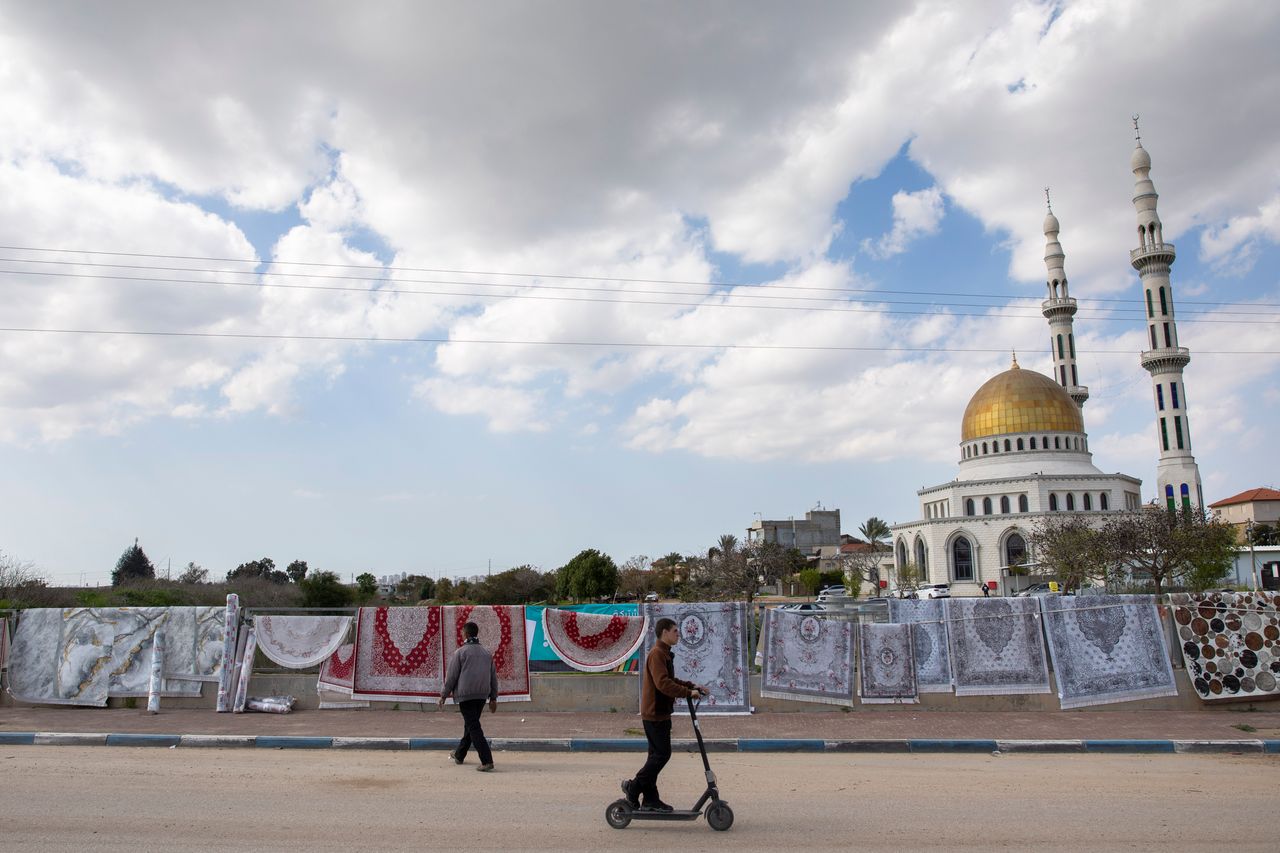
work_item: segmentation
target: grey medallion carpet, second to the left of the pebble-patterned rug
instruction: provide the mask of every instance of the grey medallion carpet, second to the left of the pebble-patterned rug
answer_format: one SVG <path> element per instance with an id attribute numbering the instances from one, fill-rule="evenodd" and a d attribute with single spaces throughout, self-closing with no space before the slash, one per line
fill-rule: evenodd
<path id="1" fill-rule="evenodd" d="M 956 695 L 1050 692 L 1034 597 L 943 601 Z"/>

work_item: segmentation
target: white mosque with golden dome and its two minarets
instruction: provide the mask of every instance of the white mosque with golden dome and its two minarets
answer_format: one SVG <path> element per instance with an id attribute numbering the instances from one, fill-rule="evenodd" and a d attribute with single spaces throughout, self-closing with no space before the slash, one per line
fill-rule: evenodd
<path id="1" fill-rule="evenodd" d="M 1190 352 L 1178 346 L 1169 280 L 1175 252 L 1164 242 L 1151 156 L 1140 136 L 1130 165 L 1138 247 L 1129 260 L 1142 278 L 1151 341 L 1140 362 L 1152 380 L 1157 488 L 1170 508 L 1201 507 L 1183 382 Z M 1041 307 L 1050 325 L 1053 375 L 1020 368 L 1015 356 L 1009 370 L 983 383 L 960 425 L 959 474 L 950 483 L 920 489 L 920 519 L 891 528 L 895 571 L 914 564 L 922 584 L 950 583 L 952 596 L 977 596 L 982 587 L 1009 594 L 1027 585 L 1010 567 L 1034 562 L 1032 532 L 1050 514 L 1082 514 L 1101 525 L 1110 512 L 1142 506 L 1142 480 L 1105 474 L 1092 461 L 1083 415 L 1089 389 L 1079 382 L 1073 333 L 1076 301 L 1068 288 L 1059 231 L 1051 207 L 1044 216 L 1048 298 Z"/>

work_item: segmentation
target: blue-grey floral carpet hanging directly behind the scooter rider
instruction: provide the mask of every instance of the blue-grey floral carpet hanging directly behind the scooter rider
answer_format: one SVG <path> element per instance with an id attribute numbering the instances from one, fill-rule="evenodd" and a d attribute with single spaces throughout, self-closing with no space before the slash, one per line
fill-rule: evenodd
<path id="1" fill-rule="evenodd" d="M 657 603 L 645 605 L 641 612 L 650 625 L 640 647 L 641 670 L 657 642 L 653 626 L 659 619 L 671 619 L 680 629 L 676 678 L 710 689 L 698 712 L 751 712 L 745 602 Z M 687 713 L 684 702 L 676 703 L 676 713 Z"/>

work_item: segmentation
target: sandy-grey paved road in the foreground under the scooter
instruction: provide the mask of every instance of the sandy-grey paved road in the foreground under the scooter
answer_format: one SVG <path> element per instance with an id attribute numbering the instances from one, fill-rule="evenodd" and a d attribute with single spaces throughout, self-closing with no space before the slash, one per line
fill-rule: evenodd
<path id="1" fill-rule="evenodd" d="M 1275 756 L 718 754 L 736 821 L 612 830 L 637 754 L 0 747 L 0 849 L 1274 850 Z M 692 802 L 696 756 L 664 774 Z"/>

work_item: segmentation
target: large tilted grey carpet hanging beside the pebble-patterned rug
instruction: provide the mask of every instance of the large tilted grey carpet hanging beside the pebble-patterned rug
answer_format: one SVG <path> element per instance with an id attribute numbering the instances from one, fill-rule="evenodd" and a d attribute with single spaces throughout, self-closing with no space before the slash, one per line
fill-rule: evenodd
<path id="1" fill-rule="evenodd" d="M 1178 695 L 1153 596 L 1044 596 L 1062 708 Z"/>

